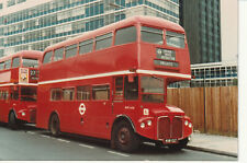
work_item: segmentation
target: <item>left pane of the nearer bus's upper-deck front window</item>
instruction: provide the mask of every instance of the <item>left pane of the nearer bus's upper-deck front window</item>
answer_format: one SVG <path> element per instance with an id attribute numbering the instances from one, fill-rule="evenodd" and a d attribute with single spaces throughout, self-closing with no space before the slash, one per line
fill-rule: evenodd
<path id="1" fill-rule="evenodd" d="M 143 42 L 159 44 L 159 45 L 164 44 L 162 30 L 142 26 L 141 35 L 142 35 Z"/>

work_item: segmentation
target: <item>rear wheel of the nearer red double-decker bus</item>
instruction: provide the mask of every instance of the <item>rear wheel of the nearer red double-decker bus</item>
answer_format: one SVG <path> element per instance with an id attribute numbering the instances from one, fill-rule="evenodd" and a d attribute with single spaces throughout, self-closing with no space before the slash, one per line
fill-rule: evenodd
<path id="1" fill-rule="evenodd" d="M 50 117 L 49 131 L 54 137 L 57 137 L 60 133 L 60 121 L 59 121 L 57 114 L 54 114 Z"/>

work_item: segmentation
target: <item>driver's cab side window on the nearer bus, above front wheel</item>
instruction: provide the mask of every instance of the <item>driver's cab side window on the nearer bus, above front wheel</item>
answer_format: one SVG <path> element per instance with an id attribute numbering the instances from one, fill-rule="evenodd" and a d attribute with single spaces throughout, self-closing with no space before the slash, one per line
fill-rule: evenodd
<path id="1" fill-rule="evenodd" d="M 138 100 L 138 77 L 134 77 L 133 82 L 130 82 L 127 77 L 124 78 L 124 98 Z"/>

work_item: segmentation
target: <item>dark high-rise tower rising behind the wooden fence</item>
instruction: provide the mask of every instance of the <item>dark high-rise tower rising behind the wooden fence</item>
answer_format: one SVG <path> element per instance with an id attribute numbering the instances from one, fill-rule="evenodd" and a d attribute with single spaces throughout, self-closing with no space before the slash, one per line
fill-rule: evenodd
<path id="1" fill-rule="evenodd" d="M 221 62 L 221 1 L 180 0 L 191 63 Z"/>

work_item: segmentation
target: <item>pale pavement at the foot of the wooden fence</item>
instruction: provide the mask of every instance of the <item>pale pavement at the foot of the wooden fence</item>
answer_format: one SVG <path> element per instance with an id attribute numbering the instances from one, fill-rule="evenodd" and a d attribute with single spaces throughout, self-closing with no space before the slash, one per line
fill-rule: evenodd
<path id="1" fill-rule="evenodd" d="M 238 138 L 194 132 L 188 149 L 238 156 Z"/>

